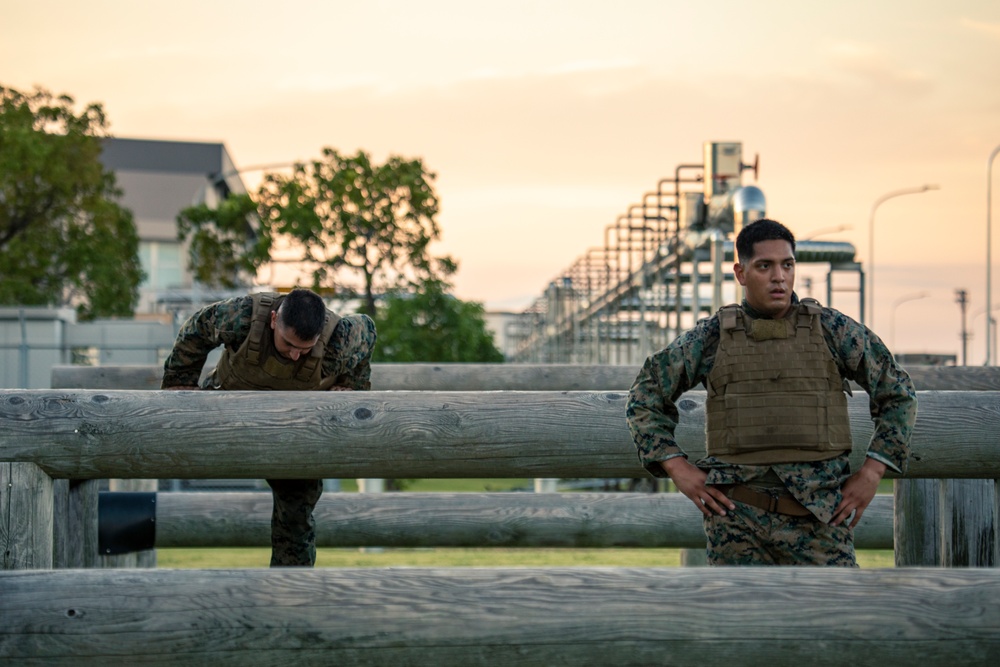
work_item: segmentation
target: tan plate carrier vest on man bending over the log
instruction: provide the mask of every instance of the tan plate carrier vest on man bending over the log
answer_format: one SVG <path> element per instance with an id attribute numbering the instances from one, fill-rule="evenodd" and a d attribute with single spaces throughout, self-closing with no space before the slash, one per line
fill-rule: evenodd
<path id="1" fill-rule="evenodd" d="M 283 359 L 274 349 L 271 313 L 284 298 L 274 292 L 253 295 L 250 334 L 236 352 L 228 348 L 222 352 L 212 378 L 215 388 L 312 391 L 333 386 L 336 377 L 323 377 L 323 354 L 340 317 L 327 311 L 323 332 L 309 354 L 294 362 Z"/>

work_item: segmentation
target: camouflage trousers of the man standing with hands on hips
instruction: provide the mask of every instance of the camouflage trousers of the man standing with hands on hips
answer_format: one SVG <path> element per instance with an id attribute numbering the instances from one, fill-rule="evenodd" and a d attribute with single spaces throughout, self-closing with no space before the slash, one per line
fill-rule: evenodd
<path id="1" fill-rule="evenodd" d="M 741 502 L 705 519 L 709 565 L 857 567 L 854 533 L 813 516 L 788 516 Z"/>

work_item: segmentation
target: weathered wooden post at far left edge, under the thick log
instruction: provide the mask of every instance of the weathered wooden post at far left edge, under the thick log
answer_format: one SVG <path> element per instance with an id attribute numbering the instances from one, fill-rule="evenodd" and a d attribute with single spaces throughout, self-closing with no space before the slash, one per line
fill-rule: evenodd
<path id="1" fill-rule="evenodd" d="M 0 564 L 52 567 L 52 478 L 34 463 L 0 462 Z M 2 597 L 2 596 L 0 596 Z"/>

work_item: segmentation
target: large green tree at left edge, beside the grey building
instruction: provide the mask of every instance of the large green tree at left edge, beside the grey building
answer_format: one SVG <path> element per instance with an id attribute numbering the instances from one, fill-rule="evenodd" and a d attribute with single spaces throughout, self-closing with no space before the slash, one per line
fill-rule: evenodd
<path id="1" fill-rule="evenodd" d="M 0 86 L 0 303 L 128 316 L 143 272 L 132 213 L 101 164 L 100 104 Z"/>

